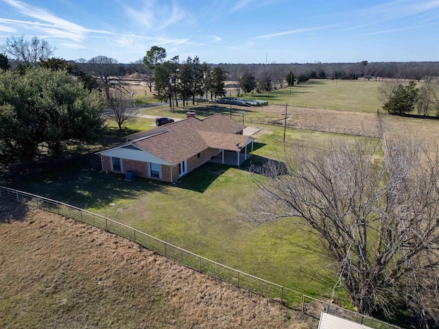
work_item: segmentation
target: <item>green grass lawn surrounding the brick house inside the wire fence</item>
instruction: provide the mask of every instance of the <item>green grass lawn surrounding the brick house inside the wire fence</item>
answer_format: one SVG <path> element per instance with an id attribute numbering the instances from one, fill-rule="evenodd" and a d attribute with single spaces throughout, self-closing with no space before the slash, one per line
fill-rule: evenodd
<path id="1" fill-rule="evenodd" d="M 123 132 L 151 127 L 139 119 Z M 110 123 L 113 143 L 121 134 Z M 265 127 L 254 158 L 275 158 L 283 150 L 283 128 Z M 110 136 L 112 138 L 110 138 Z M 324 146 L 330 134 L 287 130 L 288 143 Z M 206 164 L 177 186 L 123 175 L 99 173 L 98 156 L 82 156 L 57 165 L 58 170 L 23 178 L 11 187 L 57 199 L 121 221 L 147 234 L 229 267 L 302 291 L 330 297 L 336 277 L 315 236 L 292 219 L 250 230 L 238 206 L 252 202 L 254 177 L 243 169 Z M 338 291 L 337 293 L 341 293 Z M 342 293 L 341 293 L 342 294 Z"/>

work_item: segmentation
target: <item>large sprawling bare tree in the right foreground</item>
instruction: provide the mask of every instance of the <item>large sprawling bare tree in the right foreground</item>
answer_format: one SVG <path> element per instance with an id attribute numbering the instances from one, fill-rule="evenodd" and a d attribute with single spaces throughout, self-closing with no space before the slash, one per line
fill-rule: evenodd
<path id="1" fill-rule="evenodd" d="M 265 178 L 255 175 L 260 194 L 245 215 L 311 227 L 359 312 L 407 304 L 438 319 L 439 154 L 423 145 L 387 135 L 285 151 L 285 162 L 255 169 Z"/>

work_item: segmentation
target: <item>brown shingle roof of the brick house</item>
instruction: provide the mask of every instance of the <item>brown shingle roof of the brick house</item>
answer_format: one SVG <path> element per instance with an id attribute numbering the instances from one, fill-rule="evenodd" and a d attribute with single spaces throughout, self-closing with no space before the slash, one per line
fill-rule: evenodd
<path id="1" fill-rule="evenodd" d="M 205 119 L 189 117 L 154 130 L 166 130 L 132 141 L 133 145 L 158 156 L 169 163 L 178 164 L 208 147 L 238 151 L 237 143 L 244 145 L 247 136 L 237 135 L 246 126 L 220 114 Z M 233 148 L 235 147 L 235 148 Z"/>

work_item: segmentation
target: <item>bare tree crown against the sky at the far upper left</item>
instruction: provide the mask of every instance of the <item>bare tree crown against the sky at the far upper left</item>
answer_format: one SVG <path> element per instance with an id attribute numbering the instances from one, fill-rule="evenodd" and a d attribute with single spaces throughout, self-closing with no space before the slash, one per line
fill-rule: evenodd
<path id="1" fill-rule="evenodd" d="M 15 60 L 23 62 L 26 66 L 37 66 L 41 60 L 47 60 L 56 51 L 55 47 L 49 42 L 38 39 L 36 36 L 32 40 L 25 40 L 24 36 L 11 36 L 6 39 L 0 50 L 9 54 Z"/>

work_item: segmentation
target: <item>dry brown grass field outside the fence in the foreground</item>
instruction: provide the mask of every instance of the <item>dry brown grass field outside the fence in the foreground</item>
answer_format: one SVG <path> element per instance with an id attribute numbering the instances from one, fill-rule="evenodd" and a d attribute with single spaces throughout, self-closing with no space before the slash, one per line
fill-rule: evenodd
<path id="1" fill-rule="evenodd" d="M 71 219 L 0 200 L 0 328 L 310 328 L 311 319 Z"/>

